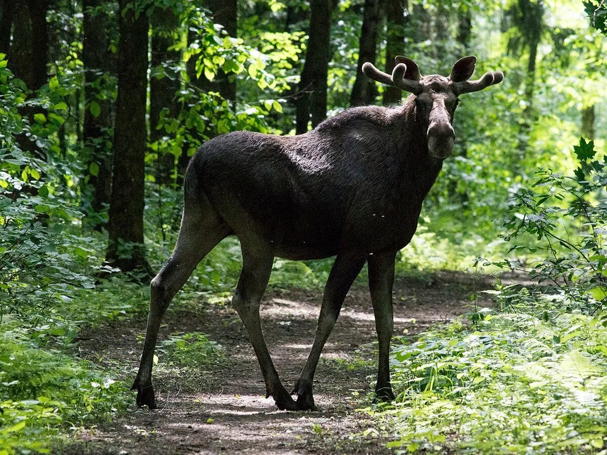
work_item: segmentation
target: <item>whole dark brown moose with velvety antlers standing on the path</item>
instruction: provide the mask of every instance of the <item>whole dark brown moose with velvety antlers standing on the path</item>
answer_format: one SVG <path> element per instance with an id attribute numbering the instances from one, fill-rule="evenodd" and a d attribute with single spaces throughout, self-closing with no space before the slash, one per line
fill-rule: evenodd
<path id="1" fill-rule="evenodd" d="M 379 342 L 376 399 L 394 399 L 388 357 L 396 253 L 415 234 L 422 201 L 453 153 L 458 96 L 504 78 L 497 71 L 470 81 L 475 65 L 475 56 L 461 58 L 444 77 L 422 76 L 402 56 L 392 75 L 367 62 L 362 70 L 368 78 L 411 93 L 401 106 L 347 109 L 297 136 L 232 132 L 197 150 L 186 171 L 175 249 L 151 283 L 146 339 L 132 387 L 138 406 L 156 407 L 152 363 L 164 312 L 198 263 L 228 235 L 239 238 L 243 261 L 232 306 L 259 360 L 266 397 L 279 409 L 316 409 L 320 352 L 366 262 Z M 260 300 L 274 257 L 331 256 L 314 343 L 288 393 L 263 338 Z"/>

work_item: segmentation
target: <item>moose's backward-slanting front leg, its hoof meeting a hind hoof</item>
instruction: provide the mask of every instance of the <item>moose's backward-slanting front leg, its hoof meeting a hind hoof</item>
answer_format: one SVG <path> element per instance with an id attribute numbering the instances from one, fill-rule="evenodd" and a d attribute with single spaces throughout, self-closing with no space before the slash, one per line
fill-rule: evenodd
<path id="1" fill-rule="evenodd" d="M 299 380 L 293 388 L 292 393 L 297 393 L 297 409 L 302 411 L 316 409 L 312 395 L 312 383 L 320 359 L 320 352 L 322 352 L 322 348 L 333 330 L 348 289 L 361 271 L 365 259 L 365 255 L 356 253 L 338 254 L 335 258 L 322 297 L 320 316 L 310 356 L 308 356 Z"/>

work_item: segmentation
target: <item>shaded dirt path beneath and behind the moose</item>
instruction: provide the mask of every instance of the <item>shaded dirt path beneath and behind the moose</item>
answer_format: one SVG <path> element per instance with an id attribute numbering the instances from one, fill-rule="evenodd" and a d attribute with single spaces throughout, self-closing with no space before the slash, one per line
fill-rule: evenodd
<path id="1" fill-rule="evenodd" d="M 489 289 L 491 283 L 490 277 L 474 283 L 460 272 L 397 278 L 395 334 L 415 335 L 470 311 L 470 292 Z M 299 289 L 269 289 L 263 298 L 266 341 L 287 389 L 297 379 L 313 342 L 320 299 L 319 291 Z M 141 316 L 84 332 L 81 355 L 121 365 L 125 374 L 134 374 L 144 331 Z M 370 406 L 370 382 L 376 374 L 375 322 L 363 286 L 348 293 L 320 359 L 314 383 L 320 411 L 279 411 L 271 398 L 265 399 L 253 348 L 229 306 L 200 302 L 188 309 L 183 305 L 169 309 L 160 339 L 177 331 L 208 334 L 222 345 L 225 359 L 210 373 L 208 368 L 155 371 L 160 409 L 133 405 L 120 419 L 79 433 L 75 442 L 57 453 L 388 453 L 384 437 L 360 436 L 372 425 L 367 414 L 356 410 Z"/>

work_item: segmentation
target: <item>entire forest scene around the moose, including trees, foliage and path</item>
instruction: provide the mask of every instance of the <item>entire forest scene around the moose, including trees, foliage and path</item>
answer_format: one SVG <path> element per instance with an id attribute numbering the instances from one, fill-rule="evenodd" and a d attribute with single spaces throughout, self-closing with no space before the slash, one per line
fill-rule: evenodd
<path id="1" fill-rule="evenodd" d="M 374 400 L 364 266 L 319 409 L 277 409 L 230 305 L 229 236 L 160 325 L 159 409 L 137 406 L 198 147 L 415 96 L 365 62 L 447 76 L 469 55 L 472 79 L 504 79 L 461 96 L 396 253 L 395 399 Z M 0 0 L 0 455 L 606 454 L 606 87 L 605 0 Z M 274 260 L 261 317 L 289 391 L 332 265 Z"/>

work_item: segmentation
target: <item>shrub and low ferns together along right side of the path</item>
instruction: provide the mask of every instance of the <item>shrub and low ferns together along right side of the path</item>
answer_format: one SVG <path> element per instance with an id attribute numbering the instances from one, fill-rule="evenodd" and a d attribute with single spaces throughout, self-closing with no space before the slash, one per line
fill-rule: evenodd
<path id="1" fill-rule="evenodd" d="M 497 280 L 483 291 L 497 311 L 475 305 L 471 326 L 458 320 L 410 345 L 401 338 L 392 352 L 395 406 L 370 411 L 395 428 L 389 447 L 592 453 L 605 446 L 607 160 L 583 139 L 574 152 L 574 174 L 539 170 L 503 223 L 510 251 L 539 258 L 484 263 L 523 271 L 541 286 Z"/>

